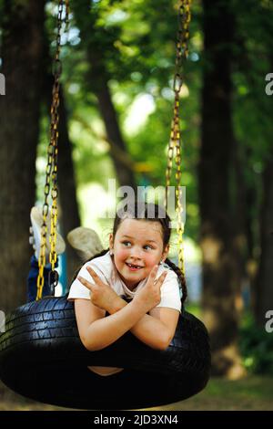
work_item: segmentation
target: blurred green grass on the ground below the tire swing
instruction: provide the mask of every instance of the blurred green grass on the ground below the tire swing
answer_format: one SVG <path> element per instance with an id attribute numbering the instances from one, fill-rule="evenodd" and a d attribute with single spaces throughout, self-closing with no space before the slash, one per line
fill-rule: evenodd
<path id="1" fill-rule="evenodd" d="M 43 410 L 56 411 L 67 408 L 44 403 L 35 403 L 7 389 L 0 384 L 0 411 Z M 231 382 L 224 379 L 211 379 L 207 388 L 196 396 L 180 403 L 173 403 L 148 410 L 263 410 L 273 411 L 273 377 L 249 376 Z"/>

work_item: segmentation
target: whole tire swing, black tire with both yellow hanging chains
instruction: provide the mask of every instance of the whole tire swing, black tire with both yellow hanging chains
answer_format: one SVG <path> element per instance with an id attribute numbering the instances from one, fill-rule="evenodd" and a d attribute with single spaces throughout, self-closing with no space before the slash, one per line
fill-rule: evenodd
<path id="1" fill-rule="evenodd" d="M 207 384 L 210 372 L 210 350 L 204 324 L 182 309 L 175 337 L 167 350 L 157 351 L 127 332 L 101 351 L 87 351 L 76 326 L 74 303 L 61 298 L 42 298 L 45 267 L 45 218 L 47 197 L 52 183 L 51 207 L 51 284 L 56 277 L 56 172 L 57 123 L 59 104 L 60 28 L 64 0 L 58 1 L 58 32 L 56 70 L 51 109 L 51 139 L 48 145 L 45 204 L 43 207 L 41 252 L 37 298 L 15 309 L 5 322 L 0 336 L 0 378 L 6 386 L 28 398 L 78 409 L 116 410 L 136 409 L 175 403 L 200 392 Z M 179 92 L 182 86 L 181 60 L 187 58 L 190 0 L 180 0 L 177 61 L 174 81 L 175 108 L 168 148 L 167 185 L 174 152 L 176 152 L 177 186 L 180 183 Z M 66 0 L 66 17 L 68 1 Z M 179 190 L 180 188 L 177 187 Z M 178 261 L 184 271 L 181 206 L 177 198 Z M 167 205 L 167 198 L 166 198 Z M 89 371 L 87 366 L 125 368 L 108 377 Z"/>

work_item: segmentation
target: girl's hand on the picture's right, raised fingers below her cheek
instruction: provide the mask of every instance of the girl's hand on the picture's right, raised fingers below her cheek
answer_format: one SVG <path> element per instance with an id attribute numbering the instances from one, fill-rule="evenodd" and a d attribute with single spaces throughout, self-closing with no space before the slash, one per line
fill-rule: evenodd
<path id="1" fill-rule="evenodd" d="M 167 271 L 164 271 L 156 280 L 157 269 L 158 266 L 153 267 L 147 279 L 147 284 L 144 288 L 136 291 L 134 298 L 139 305 L 147 309 L 146 312 L 150 309 L 154 309 L 159 304 L 161 300 L 161 286 L 167 277 Z"/>

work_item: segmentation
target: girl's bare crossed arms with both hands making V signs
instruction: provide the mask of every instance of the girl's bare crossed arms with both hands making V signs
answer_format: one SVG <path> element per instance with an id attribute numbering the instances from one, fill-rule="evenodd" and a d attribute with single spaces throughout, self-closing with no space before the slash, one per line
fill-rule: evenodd
<path id="1" fill-rule="evenodd" d="M 179 312 L 176 309 L 156 308 L 160 302 L 160 288 L 167 272 L 157 281 L 157 267 L 150 273 L 145 288 L 127 304 L 116 292 L 105 285 L 92 268 L 89 274 L 95 285 L 79 277 L 81 283 L 92 291 L 92 299 L 76 300 L 76 319 L 81 340 L 88 350 L 104 349 L 126 333 L 127 330 L 148 346 L 165 350 L 172 340 Z M 91 302 L 92 301 L 92 302 Z M 105 318 L 106 311 L 110 314 Z M 150 315 L 147 312 L 150 311 Z"/>

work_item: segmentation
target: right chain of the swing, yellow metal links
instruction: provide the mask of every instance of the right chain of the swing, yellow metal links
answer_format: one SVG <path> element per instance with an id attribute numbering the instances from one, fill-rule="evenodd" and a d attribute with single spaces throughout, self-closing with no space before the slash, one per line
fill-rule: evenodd
<path id="1" fill-rule="evenodd" d="M 183 85 L 183 60 L 188 56 L 188 37 L 189 37 L 189 23 L 191 19 L 190 13 L 191 0 L 180 0 L 178 10 L 178 30 L 177 30 L 177 44 L 176 44 L 176 68 L 173 83 L 173 90 L 175 93 L 173 120 L 171 124 L 170 140 L 167 149 L 167 169 L 166 169 L 166 194 L 165 194 L 165 208 L 167 210 L 168 187 L 171 182 L 171 174 L 173 167 L 173 160 L 176 163 L 176 201 L 177 201 L 177 235 L 178 235 L 178 267 L 182 274 L 185 276 L 184 267 L 184 246 L 183 246 L 183 233 L 184 224 L 182 221 L 183 207 L 181 205 L 181 132 L 179 124 L 179 108 L 180 108 L 180 91 Z"/>

